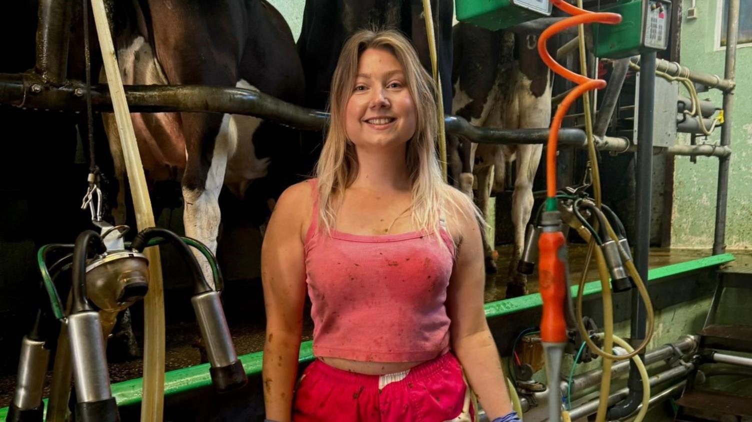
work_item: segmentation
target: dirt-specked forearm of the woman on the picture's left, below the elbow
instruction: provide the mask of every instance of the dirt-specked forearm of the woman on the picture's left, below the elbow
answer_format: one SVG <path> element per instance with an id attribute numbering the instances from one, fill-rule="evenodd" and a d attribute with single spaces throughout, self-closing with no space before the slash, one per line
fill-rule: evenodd
<path id="1" fill-rule="evenodd" d="M 300 333 L 267 330 L 262 379 L 266 417 L 279 422 L 292 419 L 293 390 L 298 374 Z"/>

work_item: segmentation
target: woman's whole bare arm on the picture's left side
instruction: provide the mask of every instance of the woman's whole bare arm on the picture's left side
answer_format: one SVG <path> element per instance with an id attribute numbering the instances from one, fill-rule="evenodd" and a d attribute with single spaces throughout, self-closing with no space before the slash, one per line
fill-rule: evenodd
<path id="1" fill-rule="evenodd" d="M 306 182 L 284 191 L 271 213 L 261 248 L 266 310 L 264 404 L 266 417 L 280 422 L 292 418 L 305 302 L 303 225 L 305 213 L 311 211 L 310 198 Z"/>

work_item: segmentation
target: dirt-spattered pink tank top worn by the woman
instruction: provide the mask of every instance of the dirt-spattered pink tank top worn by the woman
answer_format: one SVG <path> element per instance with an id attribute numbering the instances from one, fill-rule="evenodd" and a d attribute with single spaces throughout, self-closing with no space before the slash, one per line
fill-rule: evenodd
<path id="1" fill-rule="evenodd" d="M 305 237 L 314 356 L 374 362 L 429 360 L 449 350 L 447 286 L 454 244 L 434 234 L 368 236 L 317 230 Z"/>

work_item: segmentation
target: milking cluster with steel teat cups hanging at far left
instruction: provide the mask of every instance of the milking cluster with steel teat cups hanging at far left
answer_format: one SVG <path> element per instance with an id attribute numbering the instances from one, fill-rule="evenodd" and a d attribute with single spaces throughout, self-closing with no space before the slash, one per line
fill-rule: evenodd
<path id="1" fill-rule="evenodd" d="M 70 344 L 70 361 L 56 362 L 55 368 L 57 372 L 60 367 L 72 365 L 77 417 L 84 421 L 119 420 L 117 405 L 110 390 L 105 337 L 114 327 L 118 312 L 147 294 L 149 262 L 142 252 L 149 246 L 162 243 L 171 243 L 176 247 L 193 275 L 195 293 L 191 302 L 207 348 L 214 386 L 220 393 L 243 387 L 247 377 L 232 344 L 220 298 L 222 277 L 211 251 L 196 240 L 179 237 L 162 228 L 147 228 L 137 234 L 132 243 L 126 243 L 123 235 L 128 231 L 127 226 L 113 227 L 104 222 L 99 222 L 99 225 L 102 227 L 101 234 L 84 231 L 74 245 L 48 245 L 40 249 L 39 267 L 52 314 L 41 306 L 34 327 L 23 339 L 17 387 L 8 420 L 42 420 L 44 405 L 41 392 L 50 356 L 47 341 L 50 326 L 55 320 L 65 325 Z M 220 290 L 211 288 L 189 246 L 207 258 L 215 285 Z M 44 258 L 53 249 L 72 249 L 72 253 L 65 255 L 48 270 Z M 54 284 L 65 267 L 71 268 L 72 279 L 67 315 Z M 56 396 L 60 395 L 53 391 L 51 397 Z M 57 408 L 64 407 L 62 403 L 55 404 Z M 52 407 L 53 402 L 50 402 Z"/>

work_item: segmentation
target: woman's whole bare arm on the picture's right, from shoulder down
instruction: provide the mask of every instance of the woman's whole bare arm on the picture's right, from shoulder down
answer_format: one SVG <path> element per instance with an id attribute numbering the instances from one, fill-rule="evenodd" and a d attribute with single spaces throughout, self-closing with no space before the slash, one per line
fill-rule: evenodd
<path id="1" fill-rule="evenodd" d="M 481 232 L 473 205 L 456 192 L 465 213 L 450 213 L 450 231 L 458 243 L 457 257 L 447 291 L 447 312 L 452 321 L 450 339 L 468 382 L 489 420 L 512 411 L 499 351 L 484 312 L 486 272 Z M 452 224 L 453 223 L 453 224 Z"/>

